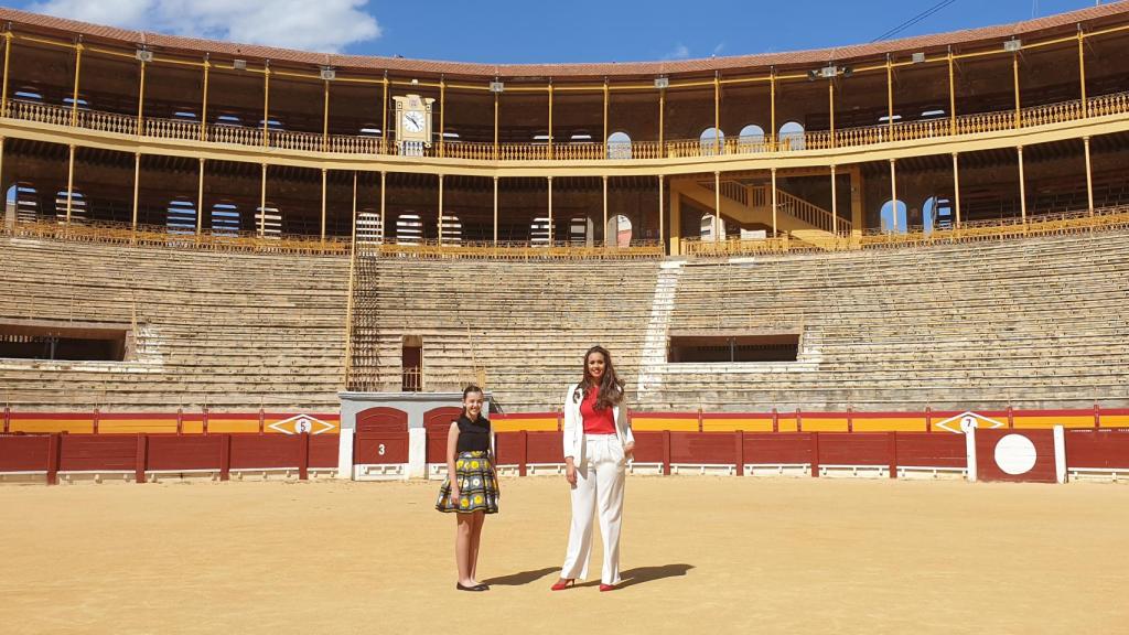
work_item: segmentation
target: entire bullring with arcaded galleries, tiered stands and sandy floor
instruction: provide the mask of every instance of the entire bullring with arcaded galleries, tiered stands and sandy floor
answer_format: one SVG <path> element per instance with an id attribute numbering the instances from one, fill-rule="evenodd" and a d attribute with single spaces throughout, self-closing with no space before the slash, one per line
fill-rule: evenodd
<path id="1" fill-rule="evenodd" d="M 1129 2 L 607 64 L 0 23 L 5 633 L 1129 633 Z M 624 583 L 550 593 L 595 343 Z"/>

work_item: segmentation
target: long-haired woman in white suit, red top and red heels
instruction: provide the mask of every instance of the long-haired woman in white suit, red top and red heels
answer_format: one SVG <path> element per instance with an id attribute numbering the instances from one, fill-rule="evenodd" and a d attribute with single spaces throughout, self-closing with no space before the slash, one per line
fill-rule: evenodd
<path id="1" fill-rule="evenodd" d="M 597 508 L 604 539 L 599 590 L 611 591 L 620 583 L 623 477 L 634 450 L 622 401 L 623 382 L 615 376 L 611 354 L 599 346 L 589 348 L 584 355 L 584 380 L 564 394 L 564 476 L 572 488 L 572 525 L 553 591 L 588 576 L 592 516 Z"/>

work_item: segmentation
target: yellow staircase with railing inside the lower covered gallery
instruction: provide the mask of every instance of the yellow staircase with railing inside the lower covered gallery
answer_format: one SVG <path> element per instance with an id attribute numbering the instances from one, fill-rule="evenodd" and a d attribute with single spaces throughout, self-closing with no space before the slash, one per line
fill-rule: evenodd
<path id="1" fill-rule="evenodd" d="M 715 209 L 717 194 L 714 182 L 695 183 L 679 181 L 671 185 L 675 194 L 682 194 L 695 203 Z M 742 225 L 764 225 L 772 227 L 772 193 L 768 185 L 745 185 L 736 181 L 721 182 L 721 217 L 729 218 Z M 824 244 L 839 235 L 850 234 L 851 224 L 844 218 L 838 221 L 833 215 L 822 207 L 813 205 L 799 197 L 782 190 L 777 190 L 778 233 L 787 233 L 794 238 L 813 244 Z"/>

